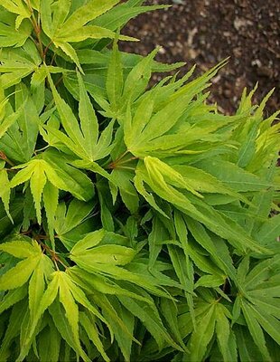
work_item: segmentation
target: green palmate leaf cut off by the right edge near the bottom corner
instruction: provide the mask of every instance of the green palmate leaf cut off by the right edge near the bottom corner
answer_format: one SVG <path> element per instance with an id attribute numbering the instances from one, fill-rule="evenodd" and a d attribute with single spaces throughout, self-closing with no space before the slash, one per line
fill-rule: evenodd
<path id="1" fill-rule="evenodd" d="M 248 258 L 247 263 L 242 262 L 238 268 L 240 277 L 243 276 L 238 286 L 242 294 L 238 295 L 235 309 L 238 313 L 242 311 L 247 329 L 265 360 L 271 360 L 266 346 L 266 333 L 278 345 L 280 343 L 279 265 L 279 255 L 276 254 L 273 258 L 259 262 L 249 272 Z"/>

